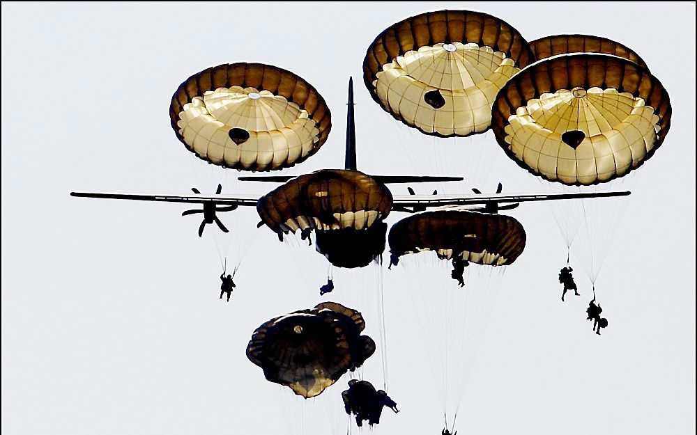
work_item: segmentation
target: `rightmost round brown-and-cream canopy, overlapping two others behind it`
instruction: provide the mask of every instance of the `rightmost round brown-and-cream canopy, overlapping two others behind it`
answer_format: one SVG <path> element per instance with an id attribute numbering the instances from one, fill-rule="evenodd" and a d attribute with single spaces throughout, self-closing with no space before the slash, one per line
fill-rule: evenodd
<path id="1" fill-rule="evenodd" d="M 641 166 L 671 125 L 668 93 L 651 73 L 606 54 L 544 59 L 511 79 L 493 106 L 507 155 L 546 180 L 597 184 Z"/>

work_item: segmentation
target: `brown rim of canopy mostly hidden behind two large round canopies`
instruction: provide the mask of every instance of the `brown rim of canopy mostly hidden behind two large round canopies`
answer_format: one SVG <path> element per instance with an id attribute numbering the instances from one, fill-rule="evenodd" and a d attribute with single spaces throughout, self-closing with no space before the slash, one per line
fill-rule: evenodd
<path id="1" fill-rule="evenodd" d="M 634 50 L 601 36 L 592 35 L 551 35 L 530 41 L 530 48 L 539 61 L 558 54 L 601 53 L 612 54 L 632 61 L 648 70 L 646 63 Z"/>

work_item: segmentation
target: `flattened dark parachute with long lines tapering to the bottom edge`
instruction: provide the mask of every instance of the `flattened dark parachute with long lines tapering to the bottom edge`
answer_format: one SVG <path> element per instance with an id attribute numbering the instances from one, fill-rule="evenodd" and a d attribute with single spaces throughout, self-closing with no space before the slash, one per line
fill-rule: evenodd
<path id="1" fill-rule="evenodd" d="M 388 241 L 392 264 L 404 271 L 409 313 L 418 322 L 452 433 L 503 272 L 523 253 L 526 233 L 510 216 L 454 207 L 401 219 Z"/>

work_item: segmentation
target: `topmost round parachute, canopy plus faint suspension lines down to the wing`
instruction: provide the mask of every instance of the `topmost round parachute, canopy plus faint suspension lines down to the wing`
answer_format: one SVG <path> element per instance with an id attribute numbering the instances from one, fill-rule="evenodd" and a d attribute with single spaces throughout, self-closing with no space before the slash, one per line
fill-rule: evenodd
<path id="1" fill-rule="evenodd" d="M 367 49 L 363 80 L 391 117 L 394 134 L 385 140 L 399 143 L 413 171 L 464 176 L 468 187 L 486 189 L 503 158 L 485 133 L 491 104 L 533 61 L 528 42 L 503 20 L 439 10 L 381 32 Z M 422 187 L 447 193 L 448 184 Z"/>

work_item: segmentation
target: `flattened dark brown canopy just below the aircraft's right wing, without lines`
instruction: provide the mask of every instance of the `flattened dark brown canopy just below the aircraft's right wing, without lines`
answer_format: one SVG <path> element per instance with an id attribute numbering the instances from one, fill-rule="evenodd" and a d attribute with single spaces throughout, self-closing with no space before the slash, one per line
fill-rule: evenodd
<path id="1" fill-rule="evenodd" d="M 434 251 L 442 260 L 504 266 L 523 253 L 526 233 L 511 216 L 441 209 L 401 219 L 390 229 L 389 242 L 392 264 L 402 255 Z"/>

